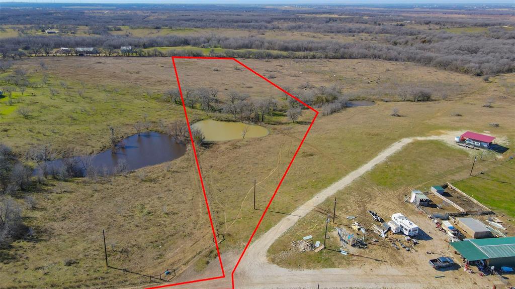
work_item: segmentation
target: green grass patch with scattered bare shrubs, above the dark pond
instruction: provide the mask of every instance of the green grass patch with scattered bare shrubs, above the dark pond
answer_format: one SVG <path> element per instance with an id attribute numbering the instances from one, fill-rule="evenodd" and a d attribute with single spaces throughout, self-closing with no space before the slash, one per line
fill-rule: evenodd
<path id="1" fill-rule="evenodd" d="M 48 74 L 46 84 L 28 87 L 24 96 L 18 90 L 11 98 L 0 99 L 0 139 L 16 151 L 23 153 L 37 140 L 55 149 L 80 144 L 79 151 L 98 152 L 109 146 L 110 125 L 124 137 L 135 133 L 133 124 L 145 115 L 152 129 L 159 130 L 160 120 L 170 121 L 182 114 L 181 106 L 161 101 L 159 92 L 148 97 L 141 87 L 130 85 L 98 89 L 94 84 L 83 86 Z M 30 81 L 42 83 L 42 74 L 31 74 Z M 5 85 L 0 81 L 0 87 Z M 58 93 L 53 96 L 50 89 Z M 16 113 L 22 106 L 30 111 L 28 117 Z"/>

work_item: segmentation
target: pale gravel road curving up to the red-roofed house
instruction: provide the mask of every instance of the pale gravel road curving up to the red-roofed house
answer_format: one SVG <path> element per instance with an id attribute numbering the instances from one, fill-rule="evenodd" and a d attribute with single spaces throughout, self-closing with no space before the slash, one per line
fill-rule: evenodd
<path id="1" fill-rule="evenodd" d="M 456 132 L 447 132 L 439 136 L 404 138 L 383 150 L 379 155 L 367 162 L 362 167 L 349 173 L 328 188 L 320 191 L 311 200 L 307 201 L 291 214 L 285 216 L 277 225 L 265 232 L 259 239 L 249 246 L 242 262 L 236 270 L 234 280 L 236 288 L 263 289 L 263 288 L 316 288 L 318 284 L 323 288 L 446 288 L 449 280 L 434 278 L 434 276 L 418 276 L 406 273 L 405 270 L 389 265 L 363 265 L 353 268 L 331 268 L 318 270 L 290 270 L 270 264 L 266 254 L 268 248 L 289 228 L 308 212 L 314 210 L 325 199 L 331 197 L 337 191 L 344 189 L 355 179 L 362 176 L 377 164 L 387 159 L 392 154 L 400 151 L 405 145 L 416 140 L 442 140 L 452 142 Z M 451 140 L 451 141 L 450 141 Z M 237 256 L 224 258 L 224 264 L 234 264 Z M 357 264 L 356 264 L 357 265 Z M 361 264 L 360 264 L 361 265 Z M 417 268 L 413 268 L 417 271 Z M 226 269 L 229 276 L 225 280 L 217 280 L 209 283 L 190 284 L 188 288 L 220 288 L 231 287 L 230 270 Z M 465 278 L 467 276 L 462 275 Z M 461 279 L 461 277 L 458 277 Z M 458 279 L 455 278 L 455 279 Z M 453 288 L 470 288 L 470 282 L 454 280 Z M 459 282 L 464 281 L 464 282 Z"/>

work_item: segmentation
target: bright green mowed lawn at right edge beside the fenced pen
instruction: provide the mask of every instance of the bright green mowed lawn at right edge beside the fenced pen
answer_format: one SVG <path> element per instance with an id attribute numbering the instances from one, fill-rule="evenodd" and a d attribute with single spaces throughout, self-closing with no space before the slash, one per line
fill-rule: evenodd
<path id="1" fill-rule="evenodd" d="M 453 185 L 496 213 L 515 217 L 515 160 Z"/>

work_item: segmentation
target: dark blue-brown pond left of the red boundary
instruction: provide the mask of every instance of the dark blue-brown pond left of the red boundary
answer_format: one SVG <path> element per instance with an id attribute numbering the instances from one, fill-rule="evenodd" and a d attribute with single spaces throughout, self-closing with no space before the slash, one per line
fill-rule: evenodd
<path id="1" fill-rule="evenodd" d="M 105 174 L 112 174 L 115 169 L 123 164 L 131 171 L 146 166 L 161 164 L 165 161 L 176 159 L 186 152 L 186 146 L 175 138 L 156 132 L 145 132 L 140 135 L 132 135 L 120 142 L 120 147 L 113 153 L 107 150 L 94 155 L 91 158 L 91 167 Z M 56 159 L 47 162 L 48 171 L 62 168 L 65 164 L 75 163 L 77 175 L 84 175 L 82 157 Z M 39 169 L 35 170 L 35 174 Z"/>

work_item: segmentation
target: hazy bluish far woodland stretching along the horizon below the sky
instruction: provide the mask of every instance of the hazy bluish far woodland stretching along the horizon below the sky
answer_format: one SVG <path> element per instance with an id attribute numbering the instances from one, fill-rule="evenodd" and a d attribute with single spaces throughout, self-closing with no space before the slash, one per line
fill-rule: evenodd
<path id="1" fill-rule="evenodd" d="M 509 5 L 505 9 L 468 7 L 459 10 L 470 17 L 427 16 L 435 9 L 370 9 L 356 6 L 306 6 L 304 9 L 279 9 L 258 5 L 132 5 L 119 9 L 93 7 L 71 9 L 64 6 L 9 7 L 0 10 L 3 24 L 82 26 L 130 26 L 130 27 L 186 27 L 186 28 L 237 28 L 237 29 L 315 29 L 317 32 L 337 32 L 341 24 L 381 25 L 391 22 L 416 21 L 421 24 L 442 26 L 502 26 L 513 22 L 498 17 L 474 18 L 474 15 L 512 15 Z M 445 8 L 448 9 L 449 7 Z M 507 9 L 508 8 L 508 9 Z M 512 6 L 511 6 L 512 8 Z M 106 10 L 108 13 L 106 13 Z M 452 12 L 451 12 L 452 13 Z M 449 10 L 447 10 L 449 14 Z M 345 17 L 341 17 L 344 16 Z M 492 17 L 493 18 L 493 17 Z M 325 28 L 324 27 L 329 27 Z"/>

